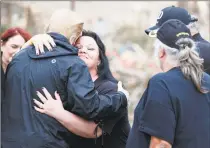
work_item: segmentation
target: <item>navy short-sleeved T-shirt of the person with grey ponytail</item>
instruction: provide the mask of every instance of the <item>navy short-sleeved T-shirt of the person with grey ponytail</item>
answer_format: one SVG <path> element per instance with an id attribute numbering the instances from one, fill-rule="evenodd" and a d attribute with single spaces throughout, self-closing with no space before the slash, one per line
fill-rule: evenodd
<path id="1" fill-rule="evenodd" d="M 210 93 L 197 91 L 179 68 L 151 78 L 135 109 L 126 147 L 149 148 L 151 136 L 172 148 L 210 148 Z"/>

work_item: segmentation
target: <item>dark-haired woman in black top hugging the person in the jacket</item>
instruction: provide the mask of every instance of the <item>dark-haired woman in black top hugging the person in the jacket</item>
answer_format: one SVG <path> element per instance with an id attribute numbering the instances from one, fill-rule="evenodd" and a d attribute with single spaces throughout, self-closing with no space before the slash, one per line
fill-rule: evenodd
<path id="1" fill-rule="evenodd" d="M 40 42 L 40 38 L 42 38 L 42 42 Z M 31 42 L 36 42 L 36 47 L 40 47 L 44 43 L 46 44 L 48 39 L 44 39 L 43 35 L 37 35 L 32 38 Z M 38 40 L 39 43 L 37 42 Z M 82 36 L 77 40 L 75 46 L 78 48 L 78 56 L 86 63 L 89 69 L 98 93 L 104 95 L 114 93 L 117 89 L 119 90 L 117 80 L 113 77 L 109 68 L 105 46 L 99 36 L 91 31 L 83 31 Z M 38 92 L 38 96 L 42 102 L 34 100 L 35 104 L 39 107 L 35 106 L 35 109 L 55 118 L 69 131 L 78 135 L 70 134 L 70 147 L 98 148 L 102 145 L 105 148 L 125 147 L 130 131 L 127 112 L 115 118 L 87 121 L 66 111 L 57 93 L 55 93 L 56 99 L 54 100 L 45 88 L 43 92 L 45 96 Z M 97 139 L 94 140 L 93 138 Z"/>

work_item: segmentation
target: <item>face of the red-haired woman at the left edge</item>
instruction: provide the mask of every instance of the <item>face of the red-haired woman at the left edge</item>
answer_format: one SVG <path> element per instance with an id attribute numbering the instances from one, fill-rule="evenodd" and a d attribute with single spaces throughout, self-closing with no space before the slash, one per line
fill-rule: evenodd
<path id="1" fill-rule="evenodd" d="M 25 43 L 24 38 L 21 35 L 15 35 L 9 38 L 5 43 L 1 44 L 1 51 L 5 59 L 9 60 L 13 55 L 18 52 L 23 44 Z"/>

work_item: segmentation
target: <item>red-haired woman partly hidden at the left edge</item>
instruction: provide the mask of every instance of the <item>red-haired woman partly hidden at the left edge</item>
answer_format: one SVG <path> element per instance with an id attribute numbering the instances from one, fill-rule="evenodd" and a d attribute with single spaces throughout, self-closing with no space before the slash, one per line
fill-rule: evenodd
<path id="1" fill-rule="evenodd" d="M 4 96 L 4 73 L 12 57 L 31 38 L 25 30 L 15 27 L 1 34 L 1 97 Z"/>

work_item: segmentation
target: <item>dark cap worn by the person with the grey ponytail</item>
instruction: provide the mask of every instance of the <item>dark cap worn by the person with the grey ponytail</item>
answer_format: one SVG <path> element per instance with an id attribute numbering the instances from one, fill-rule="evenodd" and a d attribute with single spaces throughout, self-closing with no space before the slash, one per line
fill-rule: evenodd
<path id="1" fill-rule="evenodd" d="M 157 31 L 157 38 L 165 45 L 179 49 L 176 41 L 180 38 L 192 38 L 189 28 L 179 20 L 168 20 Z"/>

